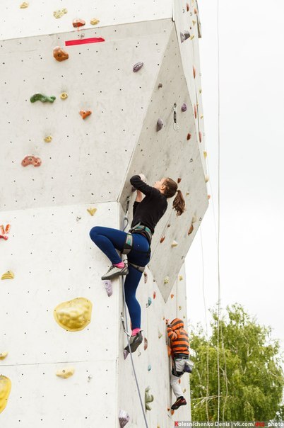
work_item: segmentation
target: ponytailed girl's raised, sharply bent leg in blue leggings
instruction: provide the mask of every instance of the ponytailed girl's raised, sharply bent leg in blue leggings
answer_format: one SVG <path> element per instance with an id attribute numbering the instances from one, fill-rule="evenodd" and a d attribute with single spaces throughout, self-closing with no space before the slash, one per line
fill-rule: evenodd
<path id="1" fill-rule="evenodd" d="M 105 253 L 112 264 L 122 262 L 116 249 L 122 250 L 126 240 L 126 232 L 110 227 L 95 226 L 90 230 L 90 239 Z"/>

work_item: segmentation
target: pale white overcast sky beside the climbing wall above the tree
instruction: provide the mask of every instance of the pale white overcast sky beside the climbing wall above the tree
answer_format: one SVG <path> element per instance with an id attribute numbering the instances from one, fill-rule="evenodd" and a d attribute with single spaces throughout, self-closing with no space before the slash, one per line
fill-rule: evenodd
<path id="1" fill-rule="evenodd" d="M 273 328 L 284 348 L 284 2 L 220 0 L 219 7 L 221 305 L 244 305 Z M 206 305 L 212 308 L 218 300 L 217 0 L 199 1 L 199 13 L 211 177 L 201 233 Z M 194 325 L 205 319 L 201 254 L 199 232 L 186 260 Z"/>

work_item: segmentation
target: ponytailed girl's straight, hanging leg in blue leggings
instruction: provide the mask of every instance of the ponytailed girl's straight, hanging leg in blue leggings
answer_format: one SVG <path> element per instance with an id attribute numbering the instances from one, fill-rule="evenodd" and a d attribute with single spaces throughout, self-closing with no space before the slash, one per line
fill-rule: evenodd
<path id="1" fill-rule="evenodd" d="M 124 283 L 125 301 L 129 310 L 132 330 L 141 328 L 141 306 L 136 299 L 136 289 L 141 279 L 141 272 L 129 265 L 129 274 Z"/>

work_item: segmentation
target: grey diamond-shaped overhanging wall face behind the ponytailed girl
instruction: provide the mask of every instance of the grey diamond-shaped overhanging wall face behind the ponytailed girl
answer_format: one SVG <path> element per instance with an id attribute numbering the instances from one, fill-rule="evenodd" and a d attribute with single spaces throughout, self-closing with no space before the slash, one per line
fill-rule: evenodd
<path id="1" fill-rule="evenodd" d="M 174 103 L 177 105 L 178 129 L 174 129 L 177 128 L 174 125 Z M 181 110 L 183 103 L 187 104 L 185 112 Z M 164 127 L 157 132 L 158 118 L 163 120 Z M 169 199 L 167 212 L 155 229 L 152 243 L 150 269 L 165 300 L 170 295 L 208 206 L 199 144 L 192 101 L 173 26 L 121 196 L 121 200 L 125 201 L 126 196 L 131 194 L 129 178 L 134 173 L 146 174 L 149 184 L 165 176 L 170 176 L 175 181 L 180 179 L 179 188 L 184 194 L 186 211 L 177 217 L 172 210 L 173 198 Z M 191 225 L 193 231 L 189 234 Z M 163 237 L 165 240 L 160 243 Z M 172 247 L 172 244 L 176 246 Z"/>

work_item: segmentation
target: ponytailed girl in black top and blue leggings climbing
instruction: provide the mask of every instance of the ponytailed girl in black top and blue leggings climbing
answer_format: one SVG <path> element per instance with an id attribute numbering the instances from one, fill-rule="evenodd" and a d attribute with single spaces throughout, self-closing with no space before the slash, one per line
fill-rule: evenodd
<path id="1" fill-rule="evenodd" d="M 132 334 L 129 339 L 131 352 L 136 351 L 143 341 L 141 330 L 141 307 L 136 300 L 136 289 L 145 266 L 150 261 L 152 235 L 162 215 L 167 210 L 167 199 L 176 193 L 172 207 L 177 215 L 184 212 L 184 198 L 177 183 L 170 178 L 156 181 L 148 186 L 143 174 L 132 176 L 130 183 L 137 190 L 133 205 L 133 220 L 128 233 L 110 227 L 95 226 L 90 230 L 90 238 L 110 259 L 112 266 L 102 279 L 112 279 L 127 275 L 124 283 L 125 300 L 131 319 Z M 143 198 L 143 194 L 145 198 Z M 119 257 L 117 251 L 127 254 L 128 265 Z M 128 347 L 125 348 L 129 351 Z"/>

